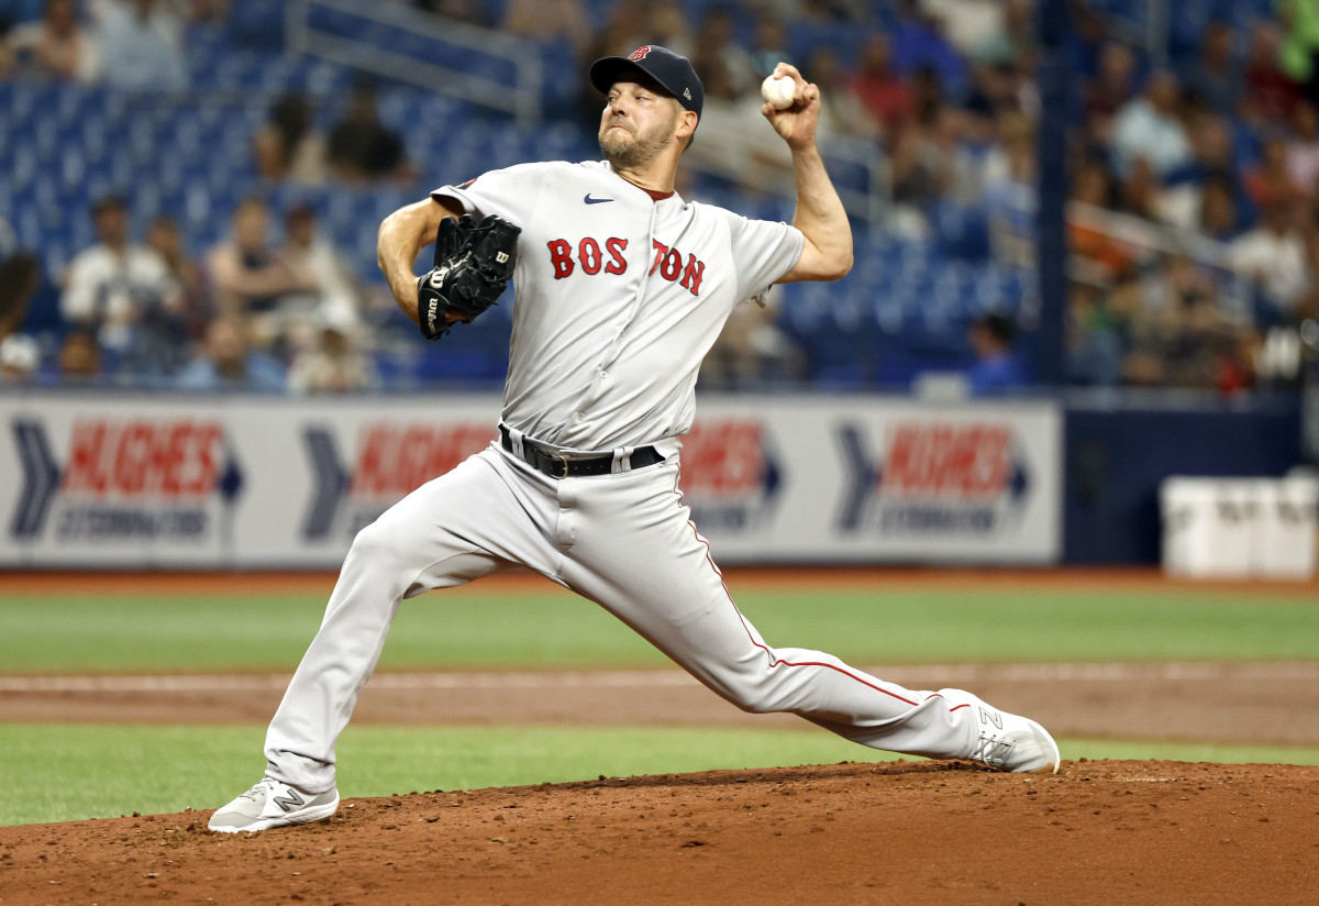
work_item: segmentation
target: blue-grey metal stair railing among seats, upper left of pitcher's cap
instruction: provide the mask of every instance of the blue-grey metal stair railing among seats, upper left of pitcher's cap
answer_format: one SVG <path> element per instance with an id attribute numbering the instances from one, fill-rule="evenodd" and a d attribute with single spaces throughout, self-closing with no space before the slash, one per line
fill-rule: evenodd
<path id="1" fill-rule="evenodd" d="M 368 40 L 350 38 L 315 25 L 318 11 L 332 11 L 372 25 L 397 29 L 434 42 L 430 59 L 400 53 Z M 503 32 L 417 12 L 397 3 L 363 0 L 290 0 L 286 9 L 286 45 L 290 51 L 313 54 L 441 95 L 512 113 L 520 125 L 541 120 L 542 67 L 538 46 Z M 464 67 L 446 66 L 446 51 L 458 49 Z M 513 73 L 513 86 L 479 75 L 468 67 L 474 58 L 493 58 Z"/>

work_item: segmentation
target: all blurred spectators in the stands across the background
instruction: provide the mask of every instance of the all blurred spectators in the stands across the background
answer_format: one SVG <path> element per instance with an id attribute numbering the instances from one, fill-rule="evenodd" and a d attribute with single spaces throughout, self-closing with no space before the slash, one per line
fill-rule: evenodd
<path id="1" fill-rule="evenodd" d="M 793 62 L 820 86 L 822 141 L 886 161 L 882 231 L 934 241 L 952 206 L 983 218 L 997 260 L 1034 266 L 1041 102 L 1030 0 L 620 0 L 604 17 L 584 0 L 409 5 L 553 45 L 583 66 L 641 42 L 687 54 L 706 87 L 690 154 L 748 193 L 791 185 L 786 148 L 749 124 L 760 80 Z M 1306 344 L 1319 343 L 1319 0 L 1260 7 L 1248 25 L 1211 18 L 1196 46 L 1169 55 L 1120 40 L 1087 0 L 1070 4 L 1070 381 L 1285 386 L 1299 380 Z M 228 0 L 0 0 L 0 75 L 179 90 L 185 25 L 228 15 Z M 794 34 L 813 25 L 853 40 L 803 51 Z M 599 104 L 583 91 L 584 129 Z M 406 136 L 381 124 L 369 84 L 332 128 L 315 123 L 298 94 L 269 104 L 252 146 L 262 178 L 415 181 Z M 69 330 L 45 355 L 17 332 L 36 277 L 0 223 L 5 375 L 127 371 L 193 389 L 377 384 L 364 311 L 379 299 L 340 266 L 310 208 L 247 199 L 228 237 L 195 256 L 169 219 L 131 236 L 125 214 L 121 199 L 94 199 L 98 241 L 58 276 Z M 703 380 L 801 377 L 777 314 L 773 305 L 740 313 Z M 975 390 L 1029 384 L 1018 336 L 1000 313 L 975 320 Z"/>

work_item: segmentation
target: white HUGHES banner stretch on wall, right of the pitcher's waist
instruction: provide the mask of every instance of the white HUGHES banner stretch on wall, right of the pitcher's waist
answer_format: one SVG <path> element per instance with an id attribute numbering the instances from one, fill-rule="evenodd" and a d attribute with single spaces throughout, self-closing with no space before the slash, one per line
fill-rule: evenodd
<path id="1" fill-rule="evenodd" d="M 1060 448 L 1050 402 L 712 398 L 682 475 L 724 562 L 1054 563 Z"/>

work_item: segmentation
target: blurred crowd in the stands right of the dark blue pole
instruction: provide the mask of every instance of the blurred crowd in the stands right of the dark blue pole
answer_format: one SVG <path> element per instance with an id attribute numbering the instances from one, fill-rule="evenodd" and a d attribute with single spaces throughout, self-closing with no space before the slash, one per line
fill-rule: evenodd
<path id="1" fill-rule="evenodd" d="M 1319 339 L 1319 4 L 1279 9 L 1246 30 L 1211 20 L 1162 66 L 1082 20 L 1074 380 L 1223 393 L 1302 380 Z"/>

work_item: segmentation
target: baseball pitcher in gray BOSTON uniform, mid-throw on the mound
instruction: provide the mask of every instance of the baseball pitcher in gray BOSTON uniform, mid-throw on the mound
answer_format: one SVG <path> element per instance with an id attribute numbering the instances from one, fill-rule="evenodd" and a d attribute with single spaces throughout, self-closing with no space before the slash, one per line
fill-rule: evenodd
<path id="1" fill-rule="evenodd" d="M 1057 773 L 1058 746 L 1033 720 L 770 646 L 682 502 L 678 438 L 729 311 L 773 284 L 839 280 L 852 265 L 815 146 L 819 90 L 791 66 L 776 74 L 794 84 L 786 107 L 762 107 L 791 150 L 791 226 L 674 191 L 703 92 L 689 61 L 657 45 L 590 69 L 607 98 L 603 161 L 493 170 L 381 224 L 380 268 L 427 339 L 480 317 L 514 280 L 497 437 L 357 534 L 270 723 L 265 777 L 212 815 L 212 831 L 334 814 L 335 741 L 400 603 L 514 567 L 599 603 L 744 711 L 797 713 L 876 749 Z M 413 262 L 431 241 L 435 266 L 418 278 Z"/>

